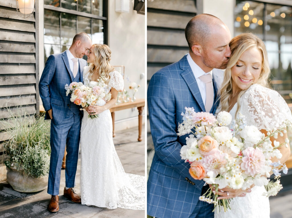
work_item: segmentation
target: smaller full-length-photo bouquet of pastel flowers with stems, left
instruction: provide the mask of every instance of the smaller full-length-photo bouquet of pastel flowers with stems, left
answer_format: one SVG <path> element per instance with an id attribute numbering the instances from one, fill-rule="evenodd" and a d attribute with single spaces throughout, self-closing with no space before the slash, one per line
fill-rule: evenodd
<path id="1" fill-rule="evenodd" d="M 109 87 L 105 84 L 105 74 L 102 73 L 98 81 L 89 81 L 88 79 L 82 82 L 72 82 L 70 85 L 65 85 L 66 96 L 71 94 L 70 101 L 74 104 L 81 105 L 80 110 L 85 110 L 90 105 L 100 105 L 100 101 L 109 101 L 111 93 Z M 88 115 L 88 118 L 97 118 L 98 114 Z"/>

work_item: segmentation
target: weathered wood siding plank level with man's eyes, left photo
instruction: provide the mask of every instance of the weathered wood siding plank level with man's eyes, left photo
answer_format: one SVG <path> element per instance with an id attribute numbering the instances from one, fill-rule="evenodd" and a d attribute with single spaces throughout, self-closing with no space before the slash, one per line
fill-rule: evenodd
<path id="1" fill-rule="evenodd" d="M 35 53 L 34 43 L 29 42 L 6 42 L 0 40 L 0 52 Z"/>

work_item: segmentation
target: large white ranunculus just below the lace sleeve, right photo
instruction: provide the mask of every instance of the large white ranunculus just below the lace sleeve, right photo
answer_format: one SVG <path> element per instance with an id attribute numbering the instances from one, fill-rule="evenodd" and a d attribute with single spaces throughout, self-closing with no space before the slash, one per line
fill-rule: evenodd
<path id="1" fill-rule="evenodd" d="M 255 126 L 244 126 L 240 132 L 241 138 L 244 138 L 244 143 L 255 145 L 262 139 L 265 134 L 261 133 Z"/>

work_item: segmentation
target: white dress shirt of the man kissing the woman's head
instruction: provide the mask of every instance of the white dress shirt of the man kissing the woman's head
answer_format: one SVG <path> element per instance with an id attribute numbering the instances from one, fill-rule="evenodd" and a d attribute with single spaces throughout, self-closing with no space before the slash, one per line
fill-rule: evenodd
<path id="1" fill-rule="evenodd" d="M 188 53 L 187 54 L 187 61 L 189 62 L 191 69 L 194 73 L 194 76 L 196 78 L 200 93 L 201 93 L 201 97 L 203 100 L 204 105 L 206 104 L 206 84 L 200 80 L 200 76 L 204 75 L 204 74 L 211 74 L 212 75 L 212 71 L 205 73 L 205 71 L 203 71 L 192 59 L 191 55 Z M 213 76 L 212 76 L 213 78 Z"/>

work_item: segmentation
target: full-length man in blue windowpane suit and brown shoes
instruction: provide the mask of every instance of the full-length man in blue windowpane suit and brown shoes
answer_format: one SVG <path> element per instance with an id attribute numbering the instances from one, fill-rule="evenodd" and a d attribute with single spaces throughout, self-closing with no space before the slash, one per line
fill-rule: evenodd
<path id="1" fill-rule="evenodd" d="M 51 119 L 51 161 L 48 179 L 48 194 L 52 195 L 48 210 L 59 210 L 59 188 L 61 165 L 67 145 L 66 187 L 64 196 L 73 202 L 81 202 L 75 193 L 79 139 L 82 113 L 80 107 L 70 102 L 65 85 L 83 82 L 83 68 L 87 62 L 82 59 L 92 45 L 91 38 L 81 32 L 74 36 L 72 45 L 60 54 L 48 57 L 39 81 L 39 93 L 46 110 L 45 119 Z"/>

